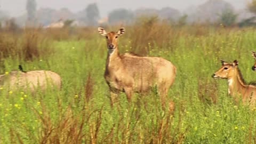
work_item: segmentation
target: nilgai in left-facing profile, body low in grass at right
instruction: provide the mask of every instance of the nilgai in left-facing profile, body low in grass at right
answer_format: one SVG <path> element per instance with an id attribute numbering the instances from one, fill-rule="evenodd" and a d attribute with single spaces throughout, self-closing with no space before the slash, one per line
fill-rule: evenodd
<path id="1" fill-rule="evenodd" d="M 255 104 L 256 86 L 246 84 L 238 68 L 238 61 L 235 60 L 233 63 L 227 63 L 221 60 L 221 63 L 221 68 L 212 77 L 215 79 L 228 79 L 228 94 L 236 102 L 242 99 L 244 103 Z"/>

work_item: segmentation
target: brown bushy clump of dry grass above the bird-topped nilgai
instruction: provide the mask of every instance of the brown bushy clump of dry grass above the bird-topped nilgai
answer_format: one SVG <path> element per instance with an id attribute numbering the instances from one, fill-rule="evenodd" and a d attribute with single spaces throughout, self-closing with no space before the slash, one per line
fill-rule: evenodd
<path id="1" fill-rule="evenodd" d="M 0 60 L 18 57 L 19 60 L 33 61 L 54 53 L 50 40 L 41 34 L 41 29 L 25 29 L 21 36 L 11 32 L 0 35 Z"/>

